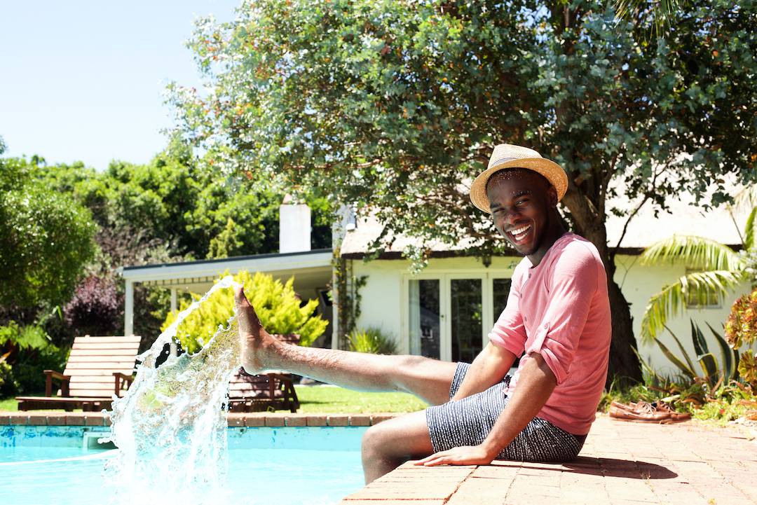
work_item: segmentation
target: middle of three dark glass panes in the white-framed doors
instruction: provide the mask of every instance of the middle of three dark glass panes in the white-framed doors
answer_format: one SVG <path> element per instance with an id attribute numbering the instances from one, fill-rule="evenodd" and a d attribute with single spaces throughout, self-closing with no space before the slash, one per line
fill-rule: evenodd
<path id="1" fill-rule="evenodd" d="M 481 279 L 450 281 L 452 361 L 470 363 L 481 352 Z"/>

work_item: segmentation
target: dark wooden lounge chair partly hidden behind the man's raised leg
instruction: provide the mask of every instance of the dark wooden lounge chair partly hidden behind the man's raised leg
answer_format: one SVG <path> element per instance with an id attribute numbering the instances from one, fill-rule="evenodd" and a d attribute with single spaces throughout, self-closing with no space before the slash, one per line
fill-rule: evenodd
<path id="1" fill-rule="evenodd" d="M 299 335 L 276 335 L 276 338 L 290 344 L 300 341 Z M 267 410 L 288 410 L 297 412 L 300 401 L 290 373 L 268 371 L 260 375 L 249 375 L 241 367 L 229 381 L 229 411 L 257 412 Z"/>

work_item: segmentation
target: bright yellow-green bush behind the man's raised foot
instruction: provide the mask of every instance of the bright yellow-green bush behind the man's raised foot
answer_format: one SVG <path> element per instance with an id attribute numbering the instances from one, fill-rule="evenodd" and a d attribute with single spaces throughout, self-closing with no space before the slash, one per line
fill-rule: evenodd
<path id="1" fill-rule="evenodd" d="M 269 333 L 297 333 L 300 335 L 300 345 L 310 345 L 326 330 L 329 321 L 313 315 L 318 306 L 317 300 L 309 300 L 300 306 L 300 299 L 294 293 L 294 277 L 282 283 L 268 274 L 257 272 L 251 276 L 248 271 L 241 271 L 234 276 L 234 280 L 245 286 L 245 294 L 255 308 L 260 323 Z M 192 294 L 192 299 L 199 298 L 199 295 Z M 179 311 L 189 305 L 190 302 L 182 301 Z M 161 330 L 176 320 L 179 311 L 168 314 Z M 232 315 L 233 290 L 218 290 L 179 325 L 176 337 L 188 352 L 197 352 L 216 333 L 219 325 L 226 326 Z"/>

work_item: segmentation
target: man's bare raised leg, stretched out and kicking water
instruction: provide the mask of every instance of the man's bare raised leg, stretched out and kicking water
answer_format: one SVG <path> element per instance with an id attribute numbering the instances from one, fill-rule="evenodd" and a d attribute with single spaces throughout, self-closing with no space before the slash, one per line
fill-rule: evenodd
<path id="1" fill-rule="evenodd" d="M 409 392 L 430 404 L 449 400 L 454 363 L 288 345 L 266 332 L 241 289 L 235 291 L 235 301 L 242 365 L 248 373 L 279 369 L 359 391 Z"/>

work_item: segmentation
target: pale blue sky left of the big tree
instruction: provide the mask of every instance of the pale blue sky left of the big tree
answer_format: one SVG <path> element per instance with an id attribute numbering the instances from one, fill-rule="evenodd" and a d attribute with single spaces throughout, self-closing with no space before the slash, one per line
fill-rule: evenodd
<path id="1" fill-rule="evenodd" d="M 102 170 L 145 163 L 170 125 L 163 91 L 198 85 L 185 41 L 198 16 L 234 17 L 241 0 L 2 0 L 3 156 L 44 156 Z"/>

